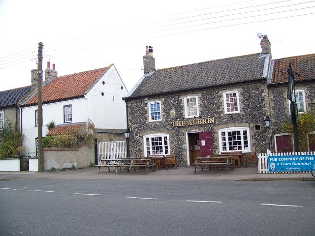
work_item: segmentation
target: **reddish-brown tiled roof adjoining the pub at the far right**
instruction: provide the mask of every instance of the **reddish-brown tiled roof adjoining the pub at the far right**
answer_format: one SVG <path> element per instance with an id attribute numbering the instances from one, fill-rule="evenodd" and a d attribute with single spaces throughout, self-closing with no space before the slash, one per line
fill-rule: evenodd
<path id="1" fill-rule="evenodd" d="M 295 81 L 315 79 L 315 54 L 275 59 L 272 71 L 271 84 L 287 83 L 287 68 L 291 63 L 292 71 L 297 72 Z M 282 73 L 281 73 L 282 72 Z M 282 76 L 282 74 L 285 76 Z"/>

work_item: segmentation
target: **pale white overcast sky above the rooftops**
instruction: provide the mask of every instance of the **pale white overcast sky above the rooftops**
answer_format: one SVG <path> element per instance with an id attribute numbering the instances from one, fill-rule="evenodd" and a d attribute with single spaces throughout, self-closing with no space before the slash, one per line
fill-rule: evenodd
<path id="1" fill-rule="evenodd" d="M 146 45 L 161 69 L 260 53 L 261 32 L 278 59 L 315 53 L 314 22 L 310 0 L 0 0 L 0 91 L 31 85 L 39 42 L 43 70 L 114 63 L 130 90 Z"/>

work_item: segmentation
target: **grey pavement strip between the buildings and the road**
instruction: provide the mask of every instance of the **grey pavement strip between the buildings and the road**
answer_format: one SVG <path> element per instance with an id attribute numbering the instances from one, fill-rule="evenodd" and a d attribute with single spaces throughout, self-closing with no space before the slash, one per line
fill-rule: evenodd
<path id="1" fill-rule="evenodd" d="M 178 167 L 177 169 L 161 169 L 153 172 L 149 169 L 148 174 L 145 170 L 137 170 L 127 172 L 122 168 L 121 174 L 115 173 L 111 168 L 109 172 L 107 168 L 100 168 L 97 174 L 96 167 L 47 171 L 47 172 L 0 172 L 0 180 L 12 179 L 123 179 L 123 180 L 195 180 L 195 181 L 276 181 L 276 180 L 297 180 L 297 181 L 315 181 L 311 173 L 292 173 L 292 174 L 259 174 L 258 168 L 254 166 L 236 168 L 233 171 L 220 168 L 215 170 L 197 169 L 194 174 L 194 167 Z"/>

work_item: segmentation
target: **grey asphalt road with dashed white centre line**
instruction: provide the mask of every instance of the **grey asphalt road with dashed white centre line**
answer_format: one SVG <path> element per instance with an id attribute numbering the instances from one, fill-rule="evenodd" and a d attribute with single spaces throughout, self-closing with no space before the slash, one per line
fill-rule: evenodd
<path id="1" fill-rule="evenodd" d="M 0 235 L 313 236 L 315 181 L 0 181 Z"/>

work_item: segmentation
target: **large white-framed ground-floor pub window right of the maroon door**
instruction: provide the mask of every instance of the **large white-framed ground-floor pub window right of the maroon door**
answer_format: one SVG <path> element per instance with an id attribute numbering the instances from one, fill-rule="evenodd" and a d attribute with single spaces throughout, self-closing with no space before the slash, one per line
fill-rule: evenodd
<path id="1" fill-rule="evenodd" d="M 250 128 L 248 127 L 232 127 L 220 129 L 219 141 L 220 152 L 251 152 Z"/>

